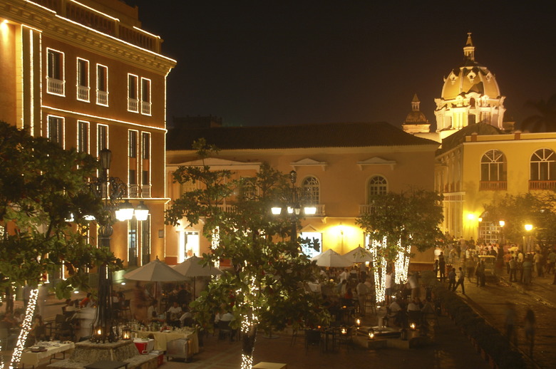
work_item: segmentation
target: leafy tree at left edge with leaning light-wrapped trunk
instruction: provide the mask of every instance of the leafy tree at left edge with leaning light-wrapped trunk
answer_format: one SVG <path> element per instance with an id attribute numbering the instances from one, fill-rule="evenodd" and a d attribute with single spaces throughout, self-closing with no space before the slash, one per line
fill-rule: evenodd
<path id="1" fill-rule="evenodd" d="M 73 288 L 88 288 L 89 268 L 106 261 L 121 264 L 86 237 L 84 216 L 98 216 L 102 208 L 87 187 L 98 167 L 95 158 L 3 122 L 0 158 L 0 288 L 7 300 L 13 286 L 33 288 L 12 366 L 31 328 L 44 275 L 60 276 L 65 266 L 68 277 L 56 281 L 54 289 L 58 298 L 68 298 Z M 67 222 L 72 214 L 73 224 Z"/>

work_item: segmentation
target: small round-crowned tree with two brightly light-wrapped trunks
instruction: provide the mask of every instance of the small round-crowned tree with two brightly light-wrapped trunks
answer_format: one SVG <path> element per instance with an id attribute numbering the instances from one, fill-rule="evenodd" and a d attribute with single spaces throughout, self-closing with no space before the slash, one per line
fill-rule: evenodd
<path id="1" fill-rule="evenodd" d="M 369 235 L 374 253 L 377 301 L 384 298 L 386 268 L 396 263 L 396 281 L 407 277 L 411 246 L 425 251 L 438 244 L 443 234 L 438 228 L 443 220 L 442 196 L 436 192 L 377 194 L 371 197 L 371 211 L 356 219 L 356 224 Z"/>

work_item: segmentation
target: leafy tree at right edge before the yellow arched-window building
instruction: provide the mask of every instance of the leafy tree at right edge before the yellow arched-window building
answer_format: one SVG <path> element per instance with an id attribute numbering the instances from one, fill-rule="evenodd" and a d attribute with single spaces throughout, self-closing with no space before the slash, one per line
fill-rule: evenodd
<path id="1" fill-rule="evenodd" d="M 508 243 L 522 244 L 527 232 L 525 224 L 532 224 L 531 236 L 541 248 L 556 244 L 556 195 L 552 192 L 539 194 L 506 194 L 489 204 L 483 204 L 485 219 L 505 222 L 504 239 Z"/>

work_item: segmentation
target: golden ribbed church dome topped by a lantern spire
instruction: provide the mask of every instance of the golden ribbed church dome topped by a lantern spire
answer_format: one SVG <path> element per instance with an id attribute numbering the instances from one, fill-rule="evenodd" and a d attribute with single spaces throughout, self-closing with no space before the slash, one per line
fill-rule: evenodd
<path id="1" fill-rule="evenodd" d="M 496 78 L 488 68 L 475 61 L 475 46 L 468 33 L 467 42 L 463 47 L 464 60 L 458 68 L 453 68 L 444 78 L 441 98 L 453 100 L 458 95 L 462 97 L 468 93 L 477 93 L 479 96 L 500 98 L 500 88 Z"/>

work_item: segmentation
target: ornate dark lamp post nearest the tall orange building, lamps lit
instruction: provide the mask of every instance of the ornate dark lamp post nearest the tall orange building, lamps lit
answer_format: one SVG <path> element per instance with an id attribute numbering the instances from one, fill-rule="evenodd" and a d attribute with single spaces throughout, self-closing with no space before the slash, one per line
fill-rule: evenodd
<path id="1" fill-rule="evenodd" d="M 120 204 L 121 200 L 127 196 L 128 187 L 120 178 L 108 176 L 111 159 L 112 152 L 110 150 L 101 150 L 101 176 L 89 183 L 91 192 L 104 199 L 101 214 L 96 221 L 99 226 L 98 246 L 108 250 L 110 250 L 113 224 L 117 220 L 130 220 L 134 213 L 133 206 L 127 199 Z M 135 217 L 138 220 L 145 220 L 148 217 L 148 208 L 142 201 L 138 204 L 138 209 L 135 209 Z M 97 343 L 118 341 L 113 326 L 112 273 L 108 269 L 108 264 L 104 263 L 98 267 L 98 301 L 95 318 L 91 324 L 91 341 Z"/>

